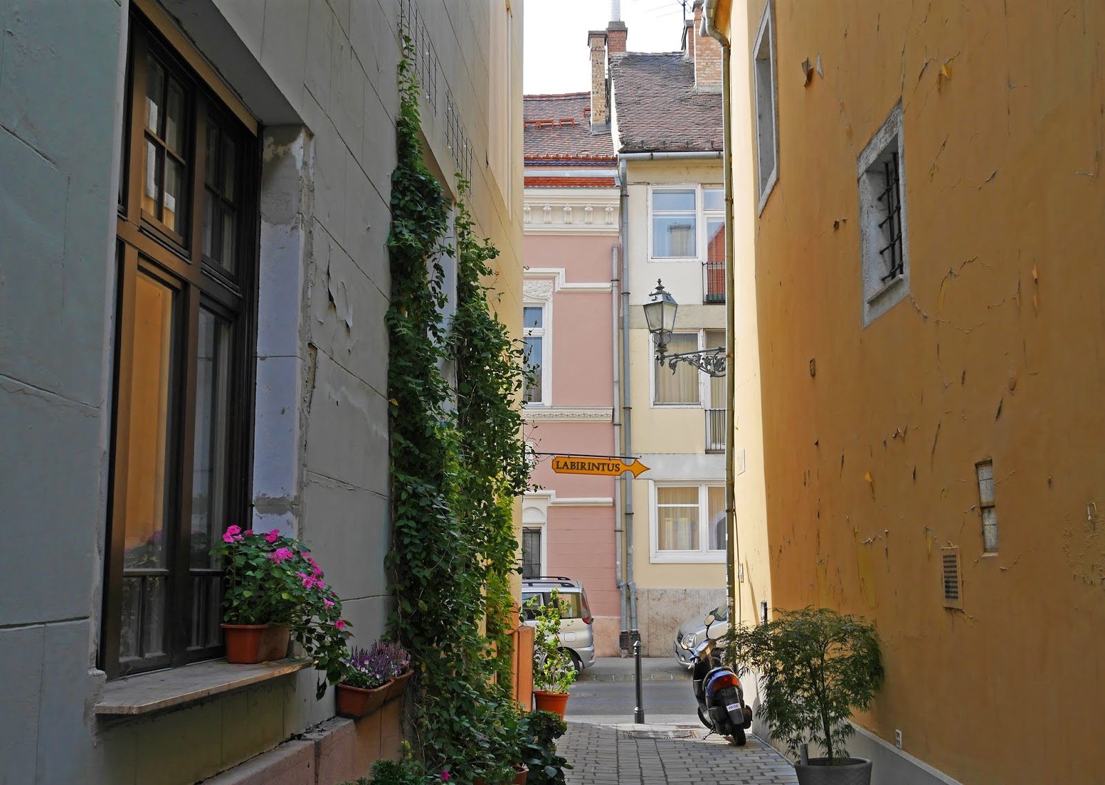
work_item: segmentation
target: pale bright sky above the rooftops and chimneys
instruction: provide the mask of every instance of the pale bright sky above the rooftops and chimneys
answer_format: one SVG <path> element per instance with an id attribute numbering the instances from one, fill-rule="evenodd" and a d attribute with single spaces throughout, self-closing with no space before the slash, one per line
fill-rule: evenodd
<path id="1" fill-rule="evenodd" d="M 691 0 L 687 0 L 687 14 Z M 621 0 L 631 52 L 677 52 L 683 35 L 680 0 Z M 591 88 L 587 31 L 610 21 L 610 0 L 525 0 L 523 91 L 581 93 Z"/>

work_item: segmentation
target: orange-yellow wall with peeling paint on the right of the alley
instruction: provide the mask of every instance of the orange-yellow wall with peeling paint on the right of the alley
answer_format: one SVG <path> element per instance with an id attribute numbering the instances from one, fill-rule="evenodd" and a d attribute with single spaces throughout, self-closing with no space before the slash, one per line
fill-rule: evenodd
<path id="1" fill-rule="evenodd" d="M 747 6 L 735 62 L 748 62 L 764 0 Z M 759 218 L 741 200 L 772 604 L 875 619 L 886 682 L 859 721 L 891 743 L 901 730 L 911 755 L 964 783 L 1094 782 L 1105 7 L 775 11 L 779 182 Z M 819 54 L 824 76 L 806 86 L 799 64 Z M 856 156 L 899 99 L 911 291 L 864 328 Z M 754 114 L 735 117 L 749 145 Z M 982 554 L 977 508 L 986 458 L 996 555 Z M 962 611 L 943 606 L 946 544 L 961 550 Z"/>

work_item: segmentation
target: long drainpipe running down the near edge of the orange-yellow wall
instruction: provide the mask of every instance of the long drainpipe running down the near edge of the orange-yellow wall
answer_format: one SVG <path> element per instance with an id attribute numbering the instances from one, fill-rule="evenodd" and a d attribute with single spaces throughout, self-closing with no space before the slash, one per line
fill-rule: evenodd
<path id="1" fill-rule="evenodd" d="M 736 299 L 737 286 L 734 264 L 733 236 L 733 100 L 728 39 L 713 26 L 718 0 L 706 0 L 702 14 L 702 33 L 715 39 L 722 45 L 722 135 L 724 138 L 725 173 L 725 353 L 728 357 L 728 372 L 725 374 L 725 512 L 728 537 L 725 538 L 725 576 L 729 594 L 729 625 L 736 628 L 743 620 L 740 592 L 737 591 L 737 567 L 740 564 L 740 543 L 737 539 L 737 502 L 734 481 L 733 452 L 736 431 L 734 399 L 737 392 L 736 353 Z"/>

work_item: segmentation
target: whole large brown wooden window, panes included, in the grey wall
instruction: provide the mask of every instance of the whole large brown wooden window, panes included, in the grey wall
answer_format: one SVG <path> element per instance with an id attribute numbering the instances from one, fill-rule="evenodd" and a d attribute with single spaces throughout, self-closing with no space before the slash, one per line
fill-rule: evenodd
<path id="1" fill-rule="evenodd" d="M 249 513 L 256 308 L 256 137 L 137 12 L 128 44 L 108 678 L 222 653 L 210 549 Z"/>

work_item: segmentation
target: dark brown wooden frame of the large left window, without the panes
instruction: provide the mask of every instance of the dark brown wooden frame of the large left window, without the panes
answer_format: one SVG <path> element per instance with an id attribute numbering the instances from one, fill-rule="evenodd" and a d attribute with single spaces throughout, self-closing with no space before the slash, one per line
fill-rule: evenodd
<path id="1" fill-rule="evenodd" d="M 190 565 L 192 478 L 196 439 L 197 357 L 201 305 L 232 325 L 229 359 L 229 410 L 225 417 L 225 520 L 249 528 L 252 485 L 253 397 L 255 362 L 253 347 L 257 331 L 257 278 L 260 247 L 260 171 L 261 153 L 257 127 L 243 124 L 235 107 L 218 96 L 224 86 L 211 85 L 190 67 L 194 53 L 187 57 L 175 50 L 139 11 L 130 17 L 127 46 L 126 100 L 123 132 L 125 180 L 116 220 L 117 233 L 117 315 L 115 332 L 115 401 L 112 421 L 112 455 L 108 481 L 107 553 L 104 574 L 104 611 L 98 649 L 99 667 L 109 679 L 166 667 L 176 667 L 221 656 L 222 644 L 190 647 L 191 587 L 193 575 L 211 574 L 209 567 Z M 167 73 L 186 86 L 183 144 L 188 169 L 181 200 L 187 200 L 186 231 L 168 231 L 156 218 L 141 210 L 145 182 L 144 140 L 146 62 L 154 56 Z M 204 190 L 204 135 L 209 119 L 229 132 L 236 142 L 236 240 L 234 273 L 206 258 L 202 253 Z M 128 413 L 135 350 L 135 288 L 139 269 L 148 272 L 179 293 L 180 336 L 175 338 L 172 395 L 169 411 L 172 432 L 166 460 L 166 537 L 165 653 L 120 662 L 123 612 L 124 548 L 126 531 L 125 498 L 128 460 Z M 118 503 L 116 501 L 118 500 Z M 218 612 L 218 607 L 213 611 Z M 220 618 L 221 620 L 221 618 Z"/>

